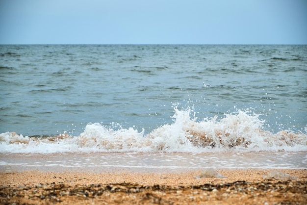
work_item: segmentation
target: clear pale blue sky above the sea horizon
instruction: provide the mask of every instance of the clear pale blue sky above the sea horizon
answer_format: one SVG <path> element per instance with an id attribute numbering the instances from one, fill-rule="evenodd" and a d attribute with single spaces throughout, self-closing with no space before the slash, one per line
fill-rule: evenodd
<path id="1" fill-rule="evenodd" d="M 307 0 L 0 0 L 0 44 L 307 44 Z"/>

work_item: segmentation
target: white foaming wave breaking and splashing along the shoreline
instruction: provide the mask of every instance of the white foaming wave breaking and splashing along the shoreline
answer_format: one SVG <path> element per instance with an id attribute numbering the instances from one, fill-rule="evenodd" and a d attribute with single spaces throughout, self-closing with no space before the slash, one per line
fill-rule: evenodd
<path id="1" fill-rule="evenodd" d="M 136 128 L 105 127 L 89 123 L 79 136 L 62 133 L 55 136 L 23 136 L 15 132 L 0 134 L 1 153 L 67 152 L 259 152 L 307 151 L 307 128 L 294 133 L 264 130 L 265 121 L 250 110 L 225 114 L 218 120 L 198 121 L 190 109 L 174 107 L 174 123 L 148 134 Z M 192 115 L 192 117 L 191 117 Z"/>

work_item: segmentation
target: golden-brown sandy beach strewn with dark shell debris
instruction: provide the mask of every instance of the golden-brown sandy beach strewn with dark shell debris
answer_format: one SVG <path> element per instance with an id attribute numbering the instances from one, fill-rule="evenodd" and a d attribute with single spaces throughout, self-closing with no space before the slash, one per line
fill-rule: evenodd
<path id="1" fill-rule="evenodd" d="M 0 173 L 0 204 L 307 204 L 306 169 L 219 169 L 186 173 Z M 272 171 L 290 179 L 265 179 Z"/>

